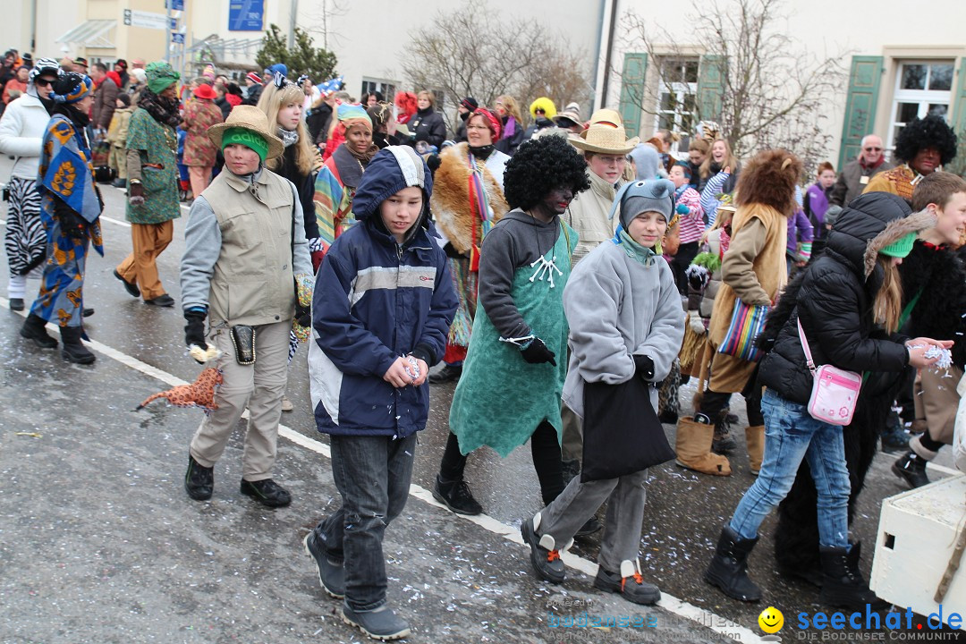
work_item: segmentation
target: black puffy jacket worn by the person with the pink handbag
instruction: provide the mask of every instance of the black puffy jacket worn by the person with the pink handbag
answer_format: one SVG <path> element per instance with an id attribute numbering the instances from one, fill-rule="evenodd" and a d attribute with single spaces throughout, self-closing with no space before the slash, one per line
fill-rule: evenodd
<path id="1" fill-rule="evenodd" d="M 883 276 L 876 267 L 866 278 L 864 257 L 870 239 L 909 213 L 904 200 L 886 192 L 862 195 L 842 210 L 824 255 L 782 294 L 766 322 L 760 344 L 769 352 L 761 361 L 760 384 L 785 400 L 809 403 L 813 378 L 798 338 L 800 317 L 816 366 L 859 373 L 905 368 L 906 337 L 889 336 L 873 322 L 872 302 Z"/>

